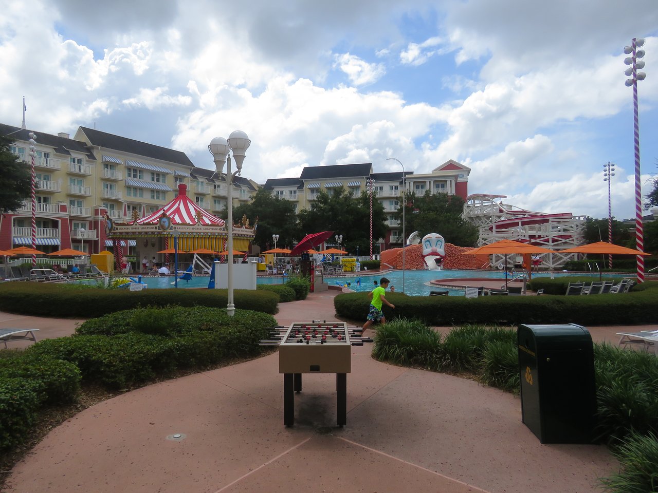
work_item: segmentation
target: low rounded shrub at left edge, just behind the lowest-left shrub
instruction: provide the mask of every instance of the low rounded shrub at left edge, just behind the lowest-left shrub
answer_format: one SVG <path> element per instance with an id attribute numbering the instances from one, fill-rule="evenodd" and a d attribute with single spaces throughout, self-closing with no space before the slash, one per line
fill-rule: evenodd
<path id="1" fill-rule="evenodd" d="M 74 364 L 50 358 L 32 358 L 26 352 L 12 352 L 0 359 L 0 380 L 22 378 L 38 388 L 39 403 L 67 404 L 80 390 L 80 371 Z"/>

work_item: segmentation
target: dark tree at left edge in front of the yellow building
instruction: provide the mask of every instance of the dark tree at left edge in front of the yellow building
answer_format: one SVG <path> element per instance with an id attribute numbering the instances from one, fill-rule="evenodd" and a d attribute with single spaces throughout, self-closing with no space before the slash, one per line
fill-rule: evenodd
<path id="1" fill-rule="evenodd" d="M 0 212 L 10 212 L 22 206 L 30 196 L 30 167 L 11 153 L 13 143 L 7 135 L 0 135 Z"/>

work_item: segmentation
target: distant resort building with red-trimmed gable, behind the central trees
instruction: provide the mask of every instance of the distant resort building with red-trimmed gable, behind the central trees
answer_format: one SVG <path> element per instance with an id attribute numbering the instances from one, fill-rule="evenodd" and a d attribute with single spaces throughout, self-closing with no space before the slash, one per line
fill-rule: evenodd
<path id="1" fill-rule="evenodd" d="M 396 217 L 399 210 L 401 192 L 405 189 L 416 195 L 447 193 L 459 195 L 466 200 L 468 195 L 468 174 L 470 168 L 454 160 L 448 160 L 428 174 L 405 172 L 374 173 L 372 163 L 336 164 L 331 166 L 307 166 L 297 178 L 268 179 L 263 187 L 275 197 L 291 200 L 295 210 L 310 208 L 320 191 L 332 195 L 336 189 L 344 188 L 354 199 L 368 190 L 367 179 L 372 180 L 373 194 L 382 202 L 387 214 L 388 231 L 385 238 L 377 243 L 380 251 L 391 247 L 401 247 L 403 243 L 402 225 Z"/>

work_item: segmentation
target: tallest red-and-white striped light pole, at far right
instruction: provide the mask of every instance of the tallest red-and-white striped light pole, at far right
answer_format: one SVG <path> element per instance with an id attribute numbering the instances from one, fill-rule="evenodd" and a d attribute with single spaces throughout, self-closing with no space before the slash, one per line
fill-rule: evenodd
<path id="1" fill-rule="evenodd" d="M 635 241 L 636 249 L 644 252 L 644 231 L 642 229 L 642 186 L 640 183 L 640 120 L 638 117 L 638 80 L 644 80 L 647 76 L 644 72 L 638 70 L 644 68 L 644 50 L 636 50 L 637 47 L 644 45 L 644 39 L 641 37 L 633 38 L 632 44 L 624 47 L 624 53 L 631 55 L 624 59 L 627 76 L 626 86 L 633 86 L 633 133 L 635 137 Z M 644 283 L 644 257 L 637 256 L 638 262 L 638 283 Z"/>

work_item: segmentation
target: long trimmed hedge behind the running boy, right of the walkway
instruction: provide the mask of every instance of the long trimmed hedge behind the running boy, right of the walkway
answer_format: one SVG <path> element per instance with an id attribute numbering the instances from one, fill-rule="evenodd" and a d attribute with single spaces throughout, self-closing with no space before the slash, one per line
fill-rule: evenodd
<path id="1" fill-rule="evenodd" d="M 395 310 L 383 305 L 387 320 L 418 319 L 432 326 L 463 323 L 578 323 L 580 325 L 638 325 L 656 323 L 658 283 L 644 283 L 626 294 L 594 296 L 407 296 L 387 293 Z M 336 314 L 365 321 L 367 293 L 343 293 L 334 298 Z"/>

